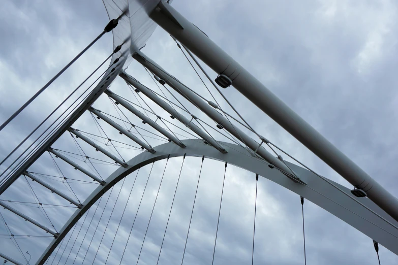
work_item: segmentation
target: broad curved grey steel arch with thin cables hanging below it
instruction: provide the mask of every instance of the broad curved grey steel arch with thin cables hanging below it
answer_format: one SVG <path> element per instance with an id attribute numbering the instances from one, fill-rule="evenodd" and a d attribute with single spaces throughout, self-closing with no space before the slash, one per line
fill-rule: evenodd
<path id="1" fill-rule="evenodd" d="M 228 153 L 223 154 L 215 148 L 205 145 L 200 140 L 182 140 L 182 142 L 187 146 L 186 148 L 180 148 L 174 143 L 159 145 L 154 148 L 156 150 L 155 154 L 143 152 L 132 158 L 128 162 L 129 166 L 127 168 L 120 167 L 112 173 L 105 180 L 106 184 L 104 186 L 99 186 L 87 197 L 86 201 L 83 203 L 84 206 L 81 209 L 76 210 L 62 230 L 59 231 L 59 236 L 50 243 L 36 264 L 43 264 L 46 261 L 52 251 L 54 251 L 57 245 L 68 234 L 69 230 L 76 224 L 81 216 L 83 216 L 90 206 L 97 202 L 97 200 L 99 200 L 99 198 L 117 182 L 138 170 L 140 167 L 153 161 L 162 160 L 168 156 L 178 157 L 183 155 L 197 157 L 202 157 L 204 155 L 206 158 L 228 162 L 229 164 L 233 164 L 242 169 L 259 174 L 259 176 L 269 179 L 297 193 L 298 195 L 303 196 L 305 199 L 325 209 L 336 217 L 339 217 L 366 236 L 376 240 L 381 245 L 398 255 L 398 230 L 391 224 L 382 220 L 376 214 L 355 202 L 353 198 L 360 201 L 363 205 L 369 207 L 395 226 L 398 226 L 398 222 L 393 220 L 368 198 L 349 197 L 311 171 L 287 162 L 289 167 L 298 174 L 300 179 L 306 184 L 293 182 L 277 169 L 268 167 L 268 163 L 264 160 L 253 157 L 247 150 L 235 144 L 220 142 L 220 144 L 228 151 Z M 348 188 L 337 183 L 334 184 L 351 196 Z"/>

